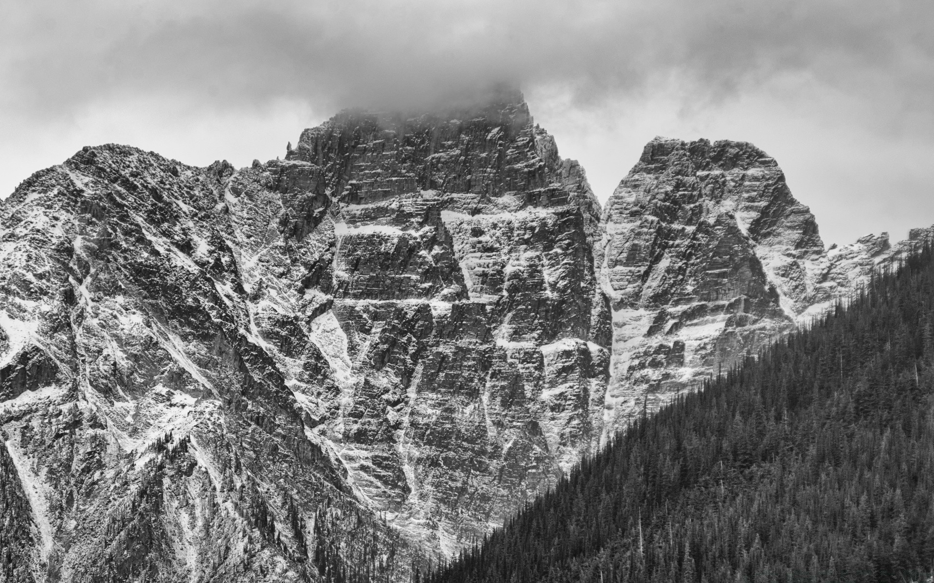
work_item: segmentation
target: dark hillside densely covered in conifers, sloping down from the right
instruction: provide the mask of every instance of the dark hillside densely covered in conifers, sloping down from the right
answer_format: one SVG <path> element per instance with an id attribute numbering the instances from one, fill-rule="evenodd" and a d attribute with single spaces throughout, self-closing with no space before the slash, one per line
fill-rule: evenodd
<path id="1" fill-rule="evenodd" d="M 432 583 L 919 581 L 934 255 L 646 416 Z"/>

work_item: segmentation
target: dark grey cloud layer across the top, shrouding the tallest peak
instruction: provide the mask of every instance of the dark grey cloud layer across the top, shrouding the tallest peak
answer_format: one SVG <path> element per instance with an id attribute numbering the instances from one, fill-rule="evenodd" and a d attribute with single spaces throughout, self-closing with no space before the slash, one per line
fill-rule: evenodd
<path id="1" fill-rule="evenodd" d="M 3 17 L 3 99 L 22 114 L 139 92 L 420 106 L 502 81 L 587 104 L 666 78 L 697 104 L 803 72 L 928 115 L 934 90 L 928 0 L 40 1 Z"/>

